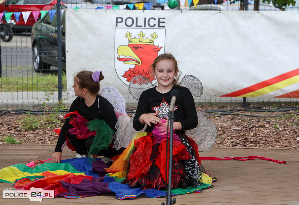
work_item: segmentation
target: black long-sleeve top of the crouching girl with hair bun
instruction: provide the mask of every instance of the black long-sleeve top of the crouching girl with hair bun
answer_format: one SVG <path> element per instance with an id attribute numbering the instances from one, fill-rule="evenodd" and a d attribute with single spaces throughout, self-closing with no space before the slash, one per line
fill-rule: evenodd
<path id="1" fill-rule="evenodd" d="M 117 122 L 117 117 L 112 104 L 106 98 L 98 95 L 94 103 L 88 107 L 85 104 L 84 98 L 77 97 L 71 104 L 69 111 L 74 112 L 76 110 L 88 121 L 94 120 L 96 118 L 100 120 L 104 119 L 113 132 L 116 132 L 115 124 Z M 67 130 L 65 130 L 65 125 L 63 125 L 57 140 L 55 152 L 62 152 L 61 147 L 66 139 L 65 131 Z"/>

